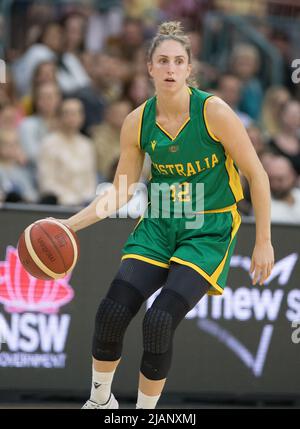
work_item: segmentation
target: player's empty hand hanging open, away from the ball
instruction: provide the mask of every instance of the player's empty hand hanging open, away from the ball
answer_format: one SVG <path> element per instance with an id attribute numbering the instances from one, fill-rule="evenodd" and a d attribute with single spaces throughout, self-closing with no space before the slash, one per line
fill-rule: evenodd
<path id="1" fill-rule="evenodd" d="M 250 273 L 253 275 L 252 284 L 258 281 L 262 285 L 270 276 L 274 266 L 274 249 L 271 241 L 256 243 L 251 260 Z"/>

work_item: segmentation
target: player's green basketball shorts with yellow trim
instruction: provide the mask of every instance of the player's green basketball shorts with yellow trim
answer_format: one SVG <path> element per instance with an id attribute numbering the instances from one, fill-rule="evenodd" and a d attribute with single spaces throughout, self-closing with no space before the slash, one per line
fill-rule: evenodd
<path id="1" fill-rule="evenodd" d="M 202 226 L 193 229 L 186 227 L 190 218 L 141 218 L 123 247 L 122 260 L 164 268 L 172 261 L 186 265 L 211 284 L 208 295 L 221 295 L 241 217 L 236 205 L 196 216 L 202 216 Z"/>

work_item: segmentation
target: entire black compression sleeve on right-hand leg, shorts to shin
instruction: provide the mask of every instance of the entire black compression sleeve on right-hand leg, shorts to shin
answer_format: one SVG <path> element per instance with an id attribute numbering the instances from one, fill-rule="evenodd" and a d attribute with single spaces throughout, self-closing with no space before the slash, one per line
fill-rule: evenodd
<path id="1" fill-rule="evenodd" d="M 193 269 L 171 264 L 166 285 L 144 318 L 141 372 L 146 378 L 167 377 L 175 329 L 209 288 L 210 284 Z"/>

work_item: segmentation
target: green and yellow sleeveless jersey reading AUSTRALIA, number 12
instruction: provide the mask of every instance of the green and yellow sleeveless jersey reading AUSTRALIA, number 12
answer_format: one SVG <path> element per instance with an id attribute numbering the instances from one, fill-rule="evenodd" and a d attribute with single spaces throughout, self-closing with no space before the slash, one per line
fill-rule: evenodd
<path id="1" fill-rule="evenodd" d="M 180 205 L 199 212 L 220 210 L 243 198 L 233 160 L 206 121 L 205 104 L 212 95 L 188 89 L 190 116 L 176 136 L 156 122 L 156 96 L 145 102 L 141 114 L 139 144 L 152 161 L 149 200 L 151 206 L 160 201 L 160 214 L 168 204 L 171 213 Z"/>

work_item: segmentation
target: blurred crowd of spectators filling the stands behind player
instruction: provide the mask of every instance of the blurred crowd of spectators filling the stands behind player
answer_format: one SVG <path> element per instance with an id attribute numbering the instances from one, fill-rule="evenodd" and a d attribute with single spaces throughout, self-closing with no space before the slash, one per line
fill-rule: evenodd
<path id="1" fill-rule="evenodd" d="M 154 94 L 148 43 L 160 22 L 175 19 L 190 36 L 198 87 L 235 110 L 269 175 L 272 220 L 300 222 L 300 83 L 286 67 L 282 85 L 264 85 L 260 52 L 245 41 L 236 41 L 226 70 L 205 62 L 203 18 L 212 4 L 228 12 L 228 2 L 16 3 L 0 84 L 0 201 L 84 206 L 98 184 L 113 180 L 122 123 Z M 250 3 L 260 11 L 266 4 Z M 285 64 L 296 58 L 292 50 L 286 57 L 282 35 L 267 33 Z M 146 158 L 140 180 L 146 183 L 149 173 Z M 253 215 L 242 181 L 240 210 Z"/>

